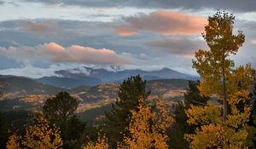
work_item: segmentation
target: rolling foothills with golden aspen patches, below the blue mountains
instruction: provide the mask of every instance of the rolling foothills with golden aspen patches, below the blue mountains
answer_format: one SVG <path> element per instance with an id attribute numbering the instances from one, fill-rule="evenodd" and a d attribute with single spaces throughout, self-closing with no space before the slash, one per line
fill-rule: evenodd
<path id="1" fill-rule="evenodd" d="M 117 99 L 119 83 L 99 83 L 95 86 L 79 86 L 73 89 L 61 89 L 52 85 L 39 83 L 26 77 L 2 76 L 1 78 L 1 112 L 31 111 L 44 106 L 44 101 L 60 91 L 67 91 L 79 100 L 76 111 L 84 119 L 102 117 Z M 146 88 L 151 91 L 148 99 L 164 99 L 166 104 L 175 104 L 183 100 L 188 80 L 160 79 L 150 80 Z"/>

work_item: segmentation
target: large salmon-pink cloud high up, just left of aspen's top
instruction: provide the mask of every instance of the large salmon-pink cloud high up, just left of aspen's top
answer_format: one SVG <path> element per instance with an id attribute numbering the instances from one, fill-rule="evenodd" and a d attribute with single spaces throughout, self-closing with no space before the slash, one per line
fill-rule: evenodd
<path id="1" fill-rule="evenodd" d="M 117 26 L 119 36 L 131 36 L 140 31 L 162 35 L 201 34 L 207 24 L 205 17 L 183 14 L 166 10 L 157 10 L 150 14 L 138 14 L 124 18 L 125 24 Z"/>

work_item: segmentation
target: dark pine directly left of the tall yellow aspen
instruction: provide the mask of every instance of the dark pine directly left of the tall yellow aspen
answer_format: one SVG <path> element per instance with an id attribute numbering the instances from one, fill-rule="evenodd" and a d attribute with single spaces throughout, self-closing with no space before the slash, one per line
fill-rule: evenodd
<path id="1" fill-rule="evenodd" d="M 210 97 L 200 95 L 198 86 L 200 81 L 189 81 L 189 88 L 184 94 L 184 101 L 180 101 L 175 106 L 173 118 L 175 122 L 168 129 L 168 145 L 169 148 L 189 148 L 189 142 L 185 140 L 185 134 L 195 133 L 195 126 L 187 123 L 189 117 L 187 117 L 185 111 L 190 106 L 205 106 Z"/>

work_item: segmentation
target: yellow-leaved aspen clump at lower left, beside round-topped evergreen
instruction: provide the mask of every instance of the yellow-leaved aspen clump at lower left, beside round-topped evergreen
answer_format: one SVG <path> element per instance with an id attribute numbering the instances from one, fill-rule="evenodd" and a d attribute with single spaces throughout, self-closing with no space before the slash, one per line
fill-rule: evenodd
<path id="1" fill-rule="evenodd" d="M 26 148 L 58 149 L 62 146 L 59 129 L 49 124 L 49 120 L 42 114 L 34 119 L 31 126 L 26 126 L 26 135 L 22 138 L 22 145 Z"/>

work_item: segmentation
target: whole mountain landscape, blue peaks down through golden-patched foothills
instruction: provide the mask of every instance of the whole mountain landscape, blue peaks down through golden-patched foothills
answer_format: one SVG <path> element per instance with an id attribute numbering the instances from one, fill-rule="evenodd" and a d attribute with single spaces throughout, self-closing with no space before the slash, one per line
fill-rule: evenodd
<path id="1" fill-rule="evenodd" d="M 0 75 L 0 112 L 41 109 L 45 100 L 67 91 L 79 99 L 76 112 L 84 119 L 95 119 L 110 109 L 117 98 L 119 84 L 127 77 L 140 74 L 147 79 L 146 88 L 151 91 L 148 99 L 162 98 L 165 104 L 171 105 L 183 100 L 188 80 L 196 78 L 168 68 L 147 72 L 83 67 L 55 73 L 58 76 L 38 79 Z"/>

